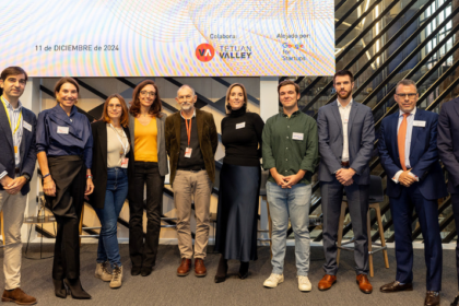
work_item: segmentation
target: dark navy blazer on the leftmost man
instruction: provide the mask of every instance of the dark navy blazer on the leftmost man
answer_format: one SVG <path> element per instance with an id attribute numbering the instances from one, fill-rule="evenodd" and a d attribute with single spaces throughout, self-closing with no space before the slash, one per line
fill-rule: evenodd
<path id="1" fill-rule="evenodd" d="M 32 126 L 32 131 L 28 131 L 23 127 L 23 134 L 20 145 L 20 175 L 24 173 L 28 174 L 32 178 L 35 172 L 35 164 L 37 161 L 37 151 L 35 146 L 35 134 L 37 118 L 32 110 L 28 110 L 25 107 L 22 107 L 22 119 Z M 10 122 L 8 121 L 8 116 L 4 110 L 3 104 L 0 103 L 0 174 L 4 170 L 8 172 L 8 176 L 14 178 L 14 145 L 13 145 L 13 134 L 11 132 Z M 4 190 L 0 185 L 0 190 Z M 31 191 L 28 181 L 24 184 L 21 189 L 23 196 L 27 195 Z"/>

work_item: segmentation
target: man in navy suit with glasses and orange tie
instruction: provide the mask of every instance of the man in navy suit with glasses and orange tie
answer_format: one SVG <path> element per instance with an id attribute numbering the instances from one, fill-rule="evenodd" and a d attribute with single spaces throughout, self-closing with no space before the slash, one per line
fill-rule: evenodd
<path id="1" fill-rule="evenodd" d="M 396 281 L 381 292 L 413 290 L 412 215 L 415 209 L 424 239 L 427 294 L 424 305 L 439 305 L 442 239 L 437 199 L 447 196 L 437 150 L 438 115 L 416 108 L 416 84 L 402 80 L 395 99 L 400 110 L 382 120 L 379 155 L 387 174 L 396 235 Z"/>

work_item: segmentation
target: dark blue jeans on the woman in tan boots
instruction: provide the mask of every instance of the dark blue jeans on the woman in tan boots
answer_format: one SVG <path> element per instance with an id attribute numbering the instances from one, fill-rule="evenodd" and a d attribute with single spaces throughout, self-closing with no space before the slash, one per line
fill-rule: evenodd
<path id="1" fill-rule="evenodd" d="M 119 256 L 117 223 L 125 200 L 128 197 L 128 169 L 107 169 L 107 190 L 103 209 L 95 209 L 101 221 L 101 235 L 98 239 L 97 262 L 109 261 L 111 268 L 121 267 Z"/>

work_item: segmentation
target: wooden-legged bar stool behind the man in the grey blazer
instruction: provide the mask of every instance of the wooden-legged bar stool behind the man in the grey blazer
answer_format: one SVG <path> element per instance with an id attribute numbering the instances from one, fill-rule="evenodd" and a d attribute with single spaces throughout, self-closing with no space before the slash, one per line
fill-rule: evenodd
<path id="1" fill-rule="evenodd" d="M 379 203 L 384 201 L 384 191 L 382 191 L 382 180 L 379 176 L 372 175 L 370 183 L 369 183 L 369 205 L 368 212 L 366 214 L 367 219 L 367 231 L 368 231 L 368 263 L 369 263 L 369 275 L 374 276 L 374 269 L 373 269 L 373 255 L 378 251 L 382 251 L 384 254 L 384 261 L 386 264 L 386 269 L 389 269 L 389 258 L 387 256 L 387 246 L 386 239 L 384 237 L 384 226 L 382 226 L 382 219 L 381 219 L 381 211 L 379 208 Z M 352 247 L 344 247 L 344 245 L 353 243 L 355 239 L 352 238 L 350 242 L 341 243 L 343 238 L 343 227 L 344 227 L 344 217 L 345 217 L 345 210 L 348 208 L 348 199 L 343 199 L 343 203 L 341 204 L 341 215 L 340 222 L 338 227 L 338 255 L 337 255 L 337 264 L 340 266 L 340 252 L 341 250 L 349 250 L 354 251 Z M 376 212 L 376 217 L 378 222 L 378 229 L 379 229 L 379 237 L 381 239 L 380 244 L 375 244 L 372 242 L 372 227 L 370 227 L 370 220 L 369 220 L 369 210 L 374 209 Z M 373 248 L 373 246 L 380 246 L 380 248 Z"/>

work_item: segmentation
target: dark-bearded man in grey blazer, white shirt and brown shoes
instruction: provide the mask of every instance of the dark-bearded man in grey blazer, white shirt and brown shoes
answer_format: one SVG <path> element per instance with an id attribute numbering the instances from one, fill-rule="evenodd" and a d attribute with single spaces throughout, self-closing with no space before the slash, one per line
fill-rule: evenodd
<path id="1" fill-rule="evenodd" d="M 333 86 L 338 98 L 319 109 L 320 192 L 323 212 L 323 250 L 326 275 L 319 282 L 320 291 L 329 290 L 337 281 L 337 237 L 343 190 L 354 232 L 356 280 L 363 293 L 372 293 L 368 281 L 368 185 L 369 160 L 375 141 L 372 109 L 352 98 L 354 76 L 342 70 L 334 74 Z"/>

